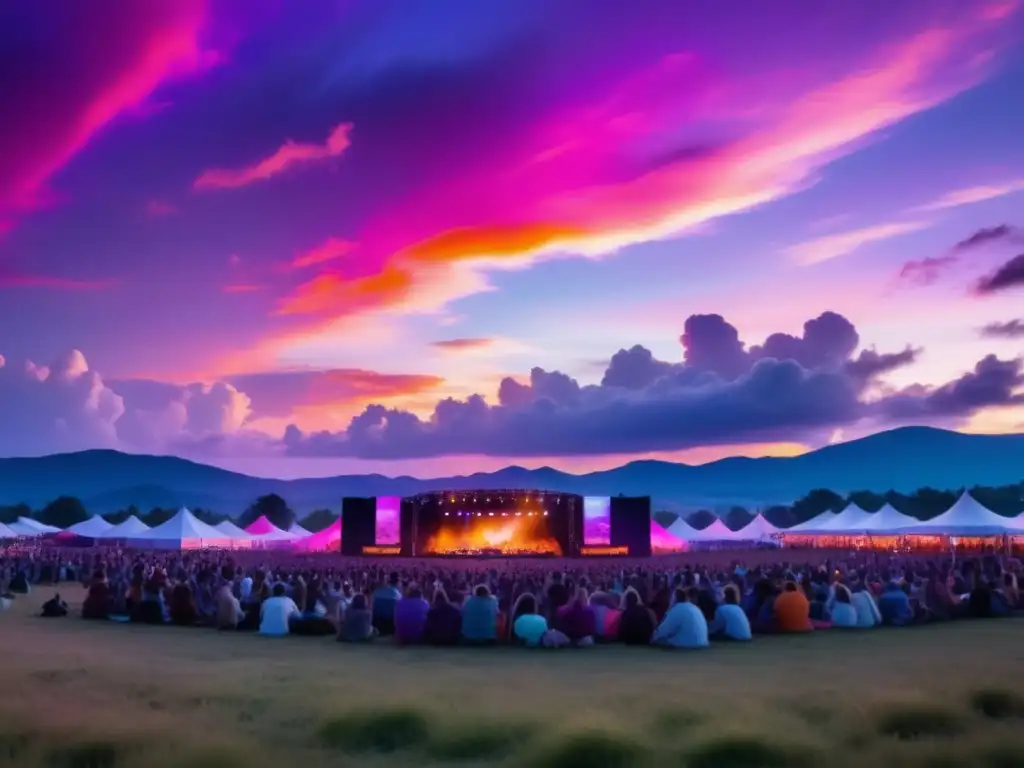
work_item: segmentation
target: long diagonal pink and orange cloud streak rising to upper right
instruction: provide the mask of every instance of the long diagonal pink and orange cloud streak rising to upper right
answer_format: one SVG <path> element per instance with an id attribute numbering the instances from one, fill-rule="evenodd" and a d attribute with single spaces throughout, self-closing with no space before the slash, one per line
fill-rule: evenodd
<path id="1" fill-rule="evenodd" d="M 589 103 L 543 116 L 486 162 L 372 220 L 356 238 L 359 273 L 329 268 L 280 312 L 436 307 L 484 290 L 486 270 L 603 256 L 806 188 L 829 162 L 986 76 L 991 59 L 967 54 L 996 44 L 997 20 L 977 6 L 954 15 L 865 48 L 829 79 L 732 79 L 683 52 L 602 83 Z M 731 138 L 685 138 L 709 123 Z"/>

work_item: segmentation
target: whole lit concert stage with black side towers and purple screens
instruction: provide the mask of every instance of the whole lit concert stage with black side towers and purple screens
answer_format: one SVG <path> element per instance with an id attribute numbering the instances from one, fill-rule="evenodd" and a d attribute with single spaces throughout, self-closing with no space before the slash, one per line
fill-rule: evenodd
<path id="1" fill-rule="evenodd" d="M 523 488 L 346 498 L 341 551 L 352 557 L 649 557 L 650 499 Z"/>

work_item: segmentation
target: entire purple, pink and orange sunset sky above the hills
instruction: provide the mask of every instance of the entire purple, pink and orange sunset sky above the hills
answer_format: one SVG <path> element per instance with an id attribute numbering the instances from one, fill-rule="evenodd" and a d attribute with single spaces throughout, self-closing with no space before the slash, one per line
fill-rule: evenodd
<path id="1" fill-rule="evenodd" d="M 10 0 L 0 456 L 1024 431 L 1022 5 Z"/>

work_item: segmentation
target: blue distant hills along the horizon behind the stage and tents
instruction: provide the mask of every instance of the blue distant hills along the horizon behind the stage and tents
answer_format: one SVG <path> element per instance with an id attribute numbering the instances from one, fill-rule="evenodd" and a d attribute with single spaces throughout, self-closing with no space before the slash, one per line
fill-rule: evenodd
<path id="1" fill-rule="evenodd" d="M 174 457 L 85 451 L 32 459 L 0 459 L 0 504 L 38 508 L 57 496 L 77 496 L 92 512 L 135 504 L 180 504 L 230 515 L 276 493 L 300 514 L 338 510 L 345 496 L 411 496 L 436 489 L 540 487 L 592 496 L 651 496 L 655 506 L 686 510 L 730 505 L 787 504 L 818 487 L 910 493 L 922 486 L 1006 485 L 1024 480 L 1024 435 L 962 434 L 928 427 L 880 432 L 795 458 L 730 458 L 690 466 L 631 462 L 574 475 L 550 467 L 418 479 L 340 475 L 276 480 L 250 477 Z"/>

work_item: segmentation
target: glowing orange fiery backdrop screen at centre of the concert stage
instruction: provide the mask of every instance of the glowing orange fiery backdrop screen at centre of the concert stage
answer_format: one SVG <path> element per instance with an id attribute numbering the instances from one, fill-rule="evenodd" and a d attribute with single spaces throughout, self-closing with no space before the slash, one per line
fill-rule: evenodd
<path id="1" fill-rule="evenodd" d="M 550 516 L 537 509 L 447 509 L 423 549 L 427 555 L 557 555 Z"/>

